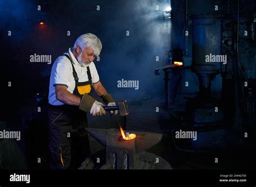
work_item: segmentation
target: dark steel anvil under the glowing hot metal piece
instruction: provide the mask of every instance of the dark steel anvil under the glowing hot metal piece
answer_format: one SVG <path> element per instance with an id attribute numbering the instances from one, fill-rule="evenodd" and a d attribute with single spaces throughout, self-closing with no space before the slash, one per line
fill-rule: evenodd
<path id="1" fill-rule="evenodd" d="M 110 169 L 136 168 L 135 155 L 156 145 L 162 134 L 129 131 L 136 134 L 132 140 L 124 140 L 118 129 L 86 128 L 86 131 L 106 147 L 106 166 Z"/>

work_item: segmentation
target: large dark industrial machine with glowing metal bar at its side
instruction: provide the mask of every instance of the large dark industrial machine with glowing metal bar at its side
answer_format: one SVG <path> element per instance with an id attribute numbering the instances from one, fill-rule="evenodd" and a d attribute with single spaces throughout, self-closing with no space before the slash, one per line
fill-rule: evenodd
<path id="1" fill-rule="evenodd" d="M 155 70 L 156 75 L 164 70 L 165 109 L 180 120 L 178 128 L 198 131 L 200 141 L 177 149 L 250 150 L 256 122 L 256 15 L 239 0 L 185 5 L 184 48 L 172 46 L 169 64 Z M 172 13 L 175 17 L 174 8 Z"/>

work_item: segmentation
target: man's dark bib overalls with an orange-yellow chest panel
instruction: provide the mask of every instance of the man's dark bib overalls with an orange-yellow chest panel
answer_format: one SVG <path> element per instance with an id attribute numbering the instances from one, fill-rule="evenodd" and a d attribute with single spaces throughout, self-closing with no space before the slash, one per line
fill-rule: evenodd
<path id="1" fill-rule="evenodd" d="M 73 94 L 83 97 L 84 93 L 90 93 L 92 78 L 89 66 L 87 76 L 89 81 L 79 82 L 75 64 L 68 54 L 72 64 L 72 74 L 76 85 Z M 80 164 L 90 155 L 89 135 L 85 131 L 87 127 L 86 112 L 79 110 L 78 106 L 49 104 L 49 150 L 51 169 L 77 169 Z"/>

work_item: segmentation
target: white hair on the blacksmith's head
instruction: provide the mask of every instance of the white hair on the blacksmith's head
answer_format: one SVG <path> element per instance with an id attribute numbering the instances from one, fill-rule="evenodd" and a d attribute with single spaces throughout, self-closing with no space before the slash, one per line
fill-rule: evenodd
<path id="1" fill-rule="evenodd" d="M 99 38 L 92 33 L 80 35 L 80 37 L 77 38 L 73 48 L 76 49 L 77 46 L 79 46 L 82 51 L 85 48 L 91 47 L 94 55 L 96 56 L 99 56 L 100 51 L 102 51 L 102 42 L 100 42 Z"/>

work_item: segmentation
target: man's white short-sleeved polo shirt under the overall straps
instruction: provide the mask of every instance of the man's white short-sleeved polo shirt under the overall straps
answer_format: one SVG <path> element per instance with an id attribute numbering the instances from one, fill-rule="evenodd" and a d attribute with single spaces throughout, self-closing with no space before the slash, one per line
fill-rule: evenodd
<path id="1" fill-rule="evenodd" d="M 65 54 L 68 54 L 65 53 Z M 79 82 L 85 82 L 89 81 L 89 78 L 87 76 L 87 66 L 84 64 L 84 66 L 81 66 L 79 62 L 76 60 L 75 56 L 71 52 L 71 48 L 69 48 L 69 54 L 72 57 L 72 60 L 75 64 L 73 66 L 76 69 L 77 76 L 79 78 Z M 91 62 L 89 64 L 91 77 L 92 77 L 92 83 L 99 82 L 99 75 L 97 72 L 97 69 L 95 67 L 95 64 Z M 67 90 L 70 93 L 73 93 L 73 90 L 75 89 L 75 78 L 73 77 L 73 70 L 70 60 L 66 56 L 59 56 L 55 60 L 55 62 L 52 65 L 51 69 L 51 77 L 50 77 L 50 85 L 49 85 L 49 103 L 51 105 L 64 105 L 65 103 L 61 102 L 56 98 L 56 92 L 55 92 L 55 86 L 56 85 L 65 85 Z"/>

